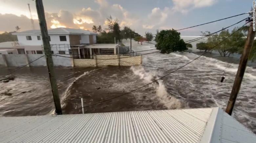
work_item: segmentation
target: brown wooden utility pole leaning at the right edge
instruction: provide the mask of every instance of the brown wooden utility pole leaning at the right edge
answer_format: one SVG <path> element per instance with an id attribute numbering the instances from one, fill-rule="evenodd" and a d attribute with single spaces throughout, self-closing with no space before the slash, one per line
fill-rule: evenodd
<path id="1" fill-rule="evenodd" d="M 250 24 L 250 27 L 249 27 L 248 35 L 246 38 L 244 51 L 243 51 L 243 54 L 240 59 L 240 63 L 239 63 L 239 67 L 238 67 L 238 70 L 236 73 L 234 85 L 233 85 L 233 88 L 232 88 L 232 91 L 231 91 L 231 94 L 230 94 L 230 97 L 229 97 L 229 100 L 227 103 L 226 113 L 229 115 L 232 114 L 232 111 L 233 111 L 233 108 L 234 108 L 234 105 L 236 102 L 236 97 L 239 92 L 239 89 L 240 89 L 240 86 L 241 86 L 241 83 L 243 80 L 243 76 L 245 73 L 245 68 L 246 68 L 246 64 L 248 61 L 248 57 L 250 55 L 250 51 L 251 51 L 252 44 L 254 41 L 255 31 L 253 31 L 252 24 L 250 22 L 249 22 L 249 24 Z"/>

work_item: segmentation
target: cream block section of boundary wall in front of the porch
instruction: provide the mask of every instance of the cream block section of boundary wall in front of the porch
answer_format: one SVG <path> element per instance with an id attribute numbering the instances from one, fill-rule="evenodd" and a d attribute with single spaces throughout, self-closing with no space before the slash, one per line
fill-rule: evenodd
<path id="1" fill-rule="evenodd" d="M 121 59 L 110 59 L 109 58 L 118 58 L 119 55 L 97 55 L 94 56 L 94 59 L 74 59 L 74 67 L 103 67 L 103 66 L 134 66 L 141 65 L 142 58 L 141 56 L 120 56 L 120 57 L 129 57 Z M 97 63 L 97 64 L 96 64 Z"/>

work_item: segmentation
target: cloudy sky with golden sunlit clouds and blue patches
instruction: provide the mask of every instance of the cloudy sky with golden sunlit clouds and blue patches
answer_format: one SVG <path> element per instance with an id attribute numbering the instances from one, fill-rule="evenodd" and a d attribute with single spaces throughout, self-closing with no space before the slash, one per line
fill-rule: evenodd
<path id="1" fill-rule="evenodd" d="M 48 28 L 70 27 L 91 30 L 93 25 L 106 28 L 106 18 L 117 18 L 121 27 L 129 26 L 139 34 L 156 29 L 180 29 L 250 11 L 252 0 L 43 0 Z M 30 13 L 39 29 L 35 2 L 0 0 L 0 33 L 31 30 Z M 215 32 L 248 15 L 218 23 L 182 30 L 181 35 Z M 238 24 L 241 26 L 244 23 Z"/>

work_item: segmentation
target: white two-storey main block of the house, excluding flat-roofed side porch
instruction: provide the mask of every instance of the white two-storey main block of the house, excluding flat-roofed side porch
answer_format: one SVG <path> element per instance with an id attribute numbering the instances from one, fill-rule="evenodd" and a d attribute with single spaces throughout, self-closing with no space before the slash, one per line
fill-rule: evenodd
<path id="1" fill-rule="evenodd" d="M 95 44 L 97 33 L 83 29 L 55 28 L 48 30 L 52 53 L 58 54 L 78 54 L 78 49 L 85 48 L 85 45 Z M 42 54 L 43 41 L 40 30 L 28 30 L 13 33 L 17 35 L 19 47 L 24 48 L 25 54 Z M 78 46 L 77 46 L 78 45 Z M 72 47 L 74 51 L 72 51 Z M 23 54 L 23 52 L 19 52 Z"/>

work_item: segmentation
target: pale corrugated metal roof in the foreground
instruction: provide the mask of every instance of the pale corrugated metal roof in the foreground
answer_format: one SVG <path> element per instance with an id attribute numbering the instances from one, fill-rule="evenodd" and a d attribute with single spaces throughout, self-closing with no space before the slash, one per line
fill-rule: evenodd
<path id="1" fill-rule="evenodd" d="M 1 117 L 0 142 L 253 142 L 219 108 Z"/>

